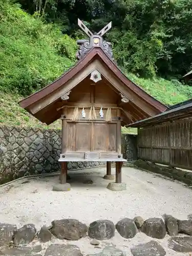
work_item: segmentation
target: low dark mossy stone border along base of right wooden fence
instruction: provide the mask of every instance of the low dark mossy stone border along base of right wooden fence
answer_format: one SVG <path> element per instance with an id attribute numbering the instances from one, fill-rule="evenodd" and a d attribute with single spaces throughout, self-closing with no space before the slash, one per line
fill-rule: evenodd
<path id="1" fill-rule="evenodd" d="M 147 170 L 152 173 L 161 174 L 168 178 L 181 181 L 187 185 L 192 185 L 192 172 L 187 172 L 187 170 L 176 169 L 169 166 L 163 166 L 155 164 L 149 161 L 137 160 L 132 163 L 127 163 L 127 167 L 136 167 L 141 170 Z"/>

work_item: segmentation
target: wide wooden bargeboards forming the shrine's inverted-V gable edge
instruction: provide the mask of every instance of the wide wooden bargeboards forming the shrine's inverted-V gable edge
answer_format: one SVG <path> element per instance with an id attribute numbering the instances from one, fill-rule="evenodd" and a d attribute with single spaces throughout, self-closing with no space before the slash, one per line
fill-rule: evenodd
<path id="1" fill-rule="evenodd" d="M 154 116 L 166 110 L 166 106 L 130 81 L 100 48 L 93 48 L 77 64 L 47 87 L 20 101 L 20 105 L 39 120 L 41 111 L 53 104 L 97 68 L 114 89 L 128 97 L 136 108 L 144 110 L 145 116 Z M 133 106 L 134 107 L 134 106 Z M 51 109 L 51 108 L 49 108 Z M 56 110 L 55 110 L 56 111 Z M 55 113 L 55 117 L 59 117 Z M 53 121 L 56 119 L 53 117 Z M 49 121 L 50 123 L 50 121 Z"/>

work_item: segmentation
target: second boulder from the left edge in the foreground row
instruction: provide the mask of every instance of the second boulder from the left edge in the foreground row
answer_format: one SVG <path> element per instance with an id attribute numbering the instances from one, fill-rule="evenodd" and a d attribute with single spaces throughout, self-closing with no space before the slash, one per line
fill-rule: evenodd
<path id="1" fill-rule="evenodd" d="M 14 232 L 14 244 L 29 244 L 36 235 L 36 228 L 33 224 L 27 224 Z"/>

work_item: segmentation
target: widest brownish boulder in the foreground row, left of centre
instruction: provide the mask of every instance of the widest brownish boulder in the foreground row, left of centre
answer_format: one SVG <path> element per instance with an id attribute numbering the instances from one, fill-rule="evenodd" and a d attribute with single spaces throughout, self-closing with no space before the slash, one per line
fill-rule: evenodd
<path id="1" fill-rule="evenodd" d="M 58 239 L 79 240 L 87 236 L 88 227 L 74 219 L 63 219 L 52 222 L 51 232 Z"/>

